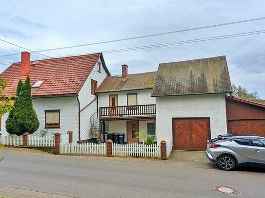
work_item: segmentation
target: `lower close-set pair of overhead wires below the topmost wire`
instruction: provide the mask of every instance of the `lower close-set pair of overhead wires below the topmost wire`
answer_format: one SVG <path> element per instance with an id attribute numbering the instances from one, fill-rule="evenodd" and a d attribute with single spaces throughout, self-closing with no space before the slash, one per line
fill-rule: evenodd
<path id="1" fill-rule="evenodd" d="M 217 40 L 217 39 L 239 37 L 239 36 L 257 35 L 257 34 L 264 34 L 264 33 L 265 33 L 265 30 L 259 30 L 259 31 L 238 33 L 238 34 L 232 34 L 232 35 L 212 36 L 212 37 L 204 37 L 204 38 L 176 41 L 176 42 L 169 42 L 169 43 L 160 43 L 160 44 L 155 44 L 155 45 L 145 45 L 145 46 L 138 46 L 138 47 L 131 47 L 131 48 L 107 50 L 107 51 L 102 51 L 102 53 L 108 54 L 108 53 L 116 53 L 116 52 L 132 51 L 132 50 L 141 50 L 141 49 L 146 49 L 146 48 L 155 48 L 155 47 L 163 47 L 163 46 L 170 46 L 170 45 L 180 45 L 180 44 L 186 44 L 186 43 L 202 42 L 202 41 Z M 96 54 L 96 53 L 100 53 L 100 52 L 86 53 L 86 54 Z M 75 54 L 75 55 L 68 55 L 68 56 L 77 56 L 77 55 L 84 55 L 84 54 Z M 67 57 L 67 56 L 58 56 L 58 57 L 54 57 L 54 58 L 60 58 L 60 57 Z M 41 59 L 38 59 L 38 60 L 41 60 Z M 10 63 L 12 63 L 12 62 L 10 62 Z M 0 64 L 8 64 L 8 63 L 0 63 Z"/>

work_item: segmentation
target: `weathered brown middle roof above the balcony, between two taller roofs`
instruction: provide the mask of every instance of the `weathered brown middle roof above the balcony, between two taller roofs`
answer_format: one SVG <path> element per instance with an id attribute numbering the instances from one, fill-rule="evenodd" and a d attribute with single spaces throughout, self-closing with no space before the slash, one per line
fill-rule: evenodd
<path id="1" fill-rule="evenodd" d="M 128 74 L 126 81 L 121 76 L 107 76 L 96 92 L 152 89 L 157 72 Z"/>

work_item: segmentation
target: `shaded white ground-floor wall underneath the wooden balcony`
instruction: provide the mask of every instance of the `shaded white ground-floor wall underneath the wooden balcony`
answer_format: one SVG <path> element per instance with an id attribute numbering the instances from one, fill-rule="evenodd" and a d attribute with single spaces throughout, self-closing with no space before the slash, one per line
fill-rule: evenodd
<path id="1" fill-rule="evenodd" d="M 139 121 L 139 131 L 143 129 L 147 133 L 147 123 L 155 123 L 156 121 Z M 125 133 L 124 141 L 127 142 L 127 122 L 126 121 L 113 121 L 109 122 L 109 132 L 115 133 Z M 155 134 L 156 134 L 156 126 L 155 126 Z M 155 137 L 156 140 L 156 137 Z"/>

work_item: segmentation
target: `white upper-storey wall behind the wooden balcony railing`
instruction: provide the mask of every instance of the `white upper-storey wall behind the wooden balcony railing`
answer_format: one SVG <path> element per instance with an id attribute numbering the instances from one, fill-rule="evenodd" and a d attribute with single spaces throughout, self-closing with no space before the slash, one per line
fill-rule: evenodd
<path id="1" fill-rule="evenodd" d="M 156 99 L 155 97 L 151 97 L 151 92 L 152 92 L 152 89 L 98 93 L 99 108 L 109 107 L 109 95 L 115 95 L 115 94 L 118 94 L 118 106 L 126 106 L 127 105 L 127 93 L 137 93 L 137 105 L 156 104 Z"/>

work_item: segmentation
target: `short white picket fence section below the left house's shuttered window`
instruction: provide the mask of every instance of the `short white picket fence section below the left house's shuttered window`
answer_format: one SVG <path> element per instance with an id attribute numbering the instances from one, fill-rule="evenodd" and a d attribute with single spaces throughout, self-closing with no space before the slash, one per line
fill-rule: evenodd
<path id="1" fill-rule="evenodd" d="M 54 135 L 51 136 L 28 136 L 29 146 L 54 146 Z"/>

